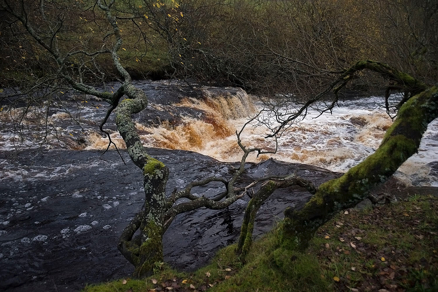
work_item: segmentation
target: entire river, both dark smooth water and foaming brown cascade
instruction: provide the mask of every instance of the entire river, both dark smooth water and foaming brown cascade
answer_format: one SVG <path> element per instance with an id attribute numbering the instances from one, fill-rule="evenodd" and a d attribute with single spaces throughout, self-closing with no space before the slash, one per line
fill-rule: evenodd
<path id="1" fill-rule="evenodd" d="M 205 176 L 230 175 L 230 162 L 241 158 L 235 130 L 254 113 L 255 97 L 237 88 L 193 89 L 169 81 L 137 85 L 150 97 L 148 109 L 134 116 L 138 133 L 151 147 L 151 155 L 170 167 L 168 191 Z M 332 115 L 318 119 L 311 119 L 317 113 L 310 111 L 279 139 L 275 155 L 248 159 L 265 161 L 248 165 L 241 183 L 294 171 L 316 184 L 339 176 L 332 171 L 345 172 L 371 154 L 391 125 L 384 109 L 359 107 L 381 101 L 379 97 L 346 101 Z M 132 271 L 116 242 L 144 203 L 141 173 L 130 162 L 124 165 L 113 150 L 101 155 L 108 140 L 96 129 L 106 109 L 90 96 L 66 95 L 60 104 L 0 112 L 1 289 L 74 291 L 85 283 Z M 13 125 L 20 127 L 21 134 L 13 134 Z M 128 161 L 113 116 L 104 129 Z M 438 186 L 437 133 L 435 120 L 419 153 L 397 173 L 405 183 Z M 265 134 L 263 127 L 249 125 L 242 141 L 275 148 L 274 141 L 263 138 Z M 270 157 L 288 163 L 267 160 Z M 206 186 L 197 192 L 215 194 L 219 187 Z M 274 193 L 258 213 L 254 235 L 269 230 L 285 205 L 302 204 L 308 197 L 296 189 Z M 244 197 L 226 210 L 201 209 L 178 216 L 165 234 L 166 262 L 186 270 L 206 263 L 215 250 L 236 239 L 247 201 Z"/>

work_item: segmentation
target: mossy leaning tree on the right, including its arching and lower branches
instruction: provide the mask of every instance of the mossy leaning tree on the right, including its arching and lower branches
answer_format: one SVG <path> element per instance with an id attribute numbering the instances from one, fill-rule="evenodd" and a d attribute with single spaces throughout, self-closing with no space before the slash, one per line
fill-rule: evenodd
<path id="1" fill-rule="evenodd" d="M 315 192 L 311 192 L 314 196 L 301 209 L 286 208 L 285 219 L 279 226 L 280 242 L 285 248 L 304 249 L 316 230 L 338 211 L 355 206 L 364 200 L 374 187 L 385 182 L 403 162 L 417 152 L 427 125 L 438 117 L 438 85 L 427 88 L 424 83 L 410 75 L 391 68 L 385 63 L 372 60 L 358 61 L 350 68 L 343 70 L 339 78 L 330 84 L 325 92 L 332 90 L 335 93 L 336 99 L 333 105 L 337 101 L 338 91 L 345 87 L 356 72 L 361 70 L 377 72 L 392 82 L 391 89 L 409 92 L 409 94 L 405 95 L 399 103 L 397 118 L 387 130 L 381 145 L 374 154 L 340 178 L 321 184 Z M 314 101 L 316 100 L 315 98 Z M 304 105 L 300 110 L 305 110 L 314 101 Z M 282 130 L 282 127 L 286 127 L 287 123 L 293 121 L 294 118 L 291 115 L 291 118 L 286 120 L 277 132 Z M 296 178 L 292 177 L 292 179 Z M 288 185 L 286 182 L 271 181 L 251 199 L 244 215 L 237 246 L 237 254 L 241 254 L 241 259 L 244 259 L 251 244 L 253 222 L 258 208 L 274 190 Z"/>

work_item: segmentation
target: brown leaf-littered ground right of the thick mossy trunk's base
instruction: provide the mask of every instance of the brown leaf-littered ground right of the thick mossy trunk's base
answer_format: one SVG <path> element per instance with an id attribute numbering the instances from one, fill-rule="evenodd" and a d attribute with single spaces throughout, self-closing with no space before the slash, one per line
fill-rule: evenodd
<path id="1" fill-rule="evenodd" d="M 425 218 L 420 204 L 398 204 L 376 207 L 368 214 L 343 211 L 331 227 L 318 230 L 323 243 L 311 252 L 327 273 L 337 267 L 337 291 L 434 291 L 429 283 L 438 272 L 438 220 Z M 428 204 L 438 210 L 436 198 L 430 197 Z"/>

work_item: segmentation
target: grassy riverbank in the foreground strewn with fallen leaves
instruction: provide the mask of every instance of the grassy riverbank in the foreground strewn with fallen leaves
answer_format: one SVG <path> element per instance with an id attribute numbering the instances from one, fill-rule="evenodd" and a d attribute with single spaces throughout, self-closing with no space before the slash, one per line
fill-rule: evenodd
<path id="1" fill-rule="evenodd" d="M 103 291 L 438 291 L 438 198 L 340 213 L 318 230 L 306 253 L 278 248 L 275 230 L 257 240 L 245 265 L 235 245 L 194 273 L 157 264 L 143 280 L 85 288 Z"/>

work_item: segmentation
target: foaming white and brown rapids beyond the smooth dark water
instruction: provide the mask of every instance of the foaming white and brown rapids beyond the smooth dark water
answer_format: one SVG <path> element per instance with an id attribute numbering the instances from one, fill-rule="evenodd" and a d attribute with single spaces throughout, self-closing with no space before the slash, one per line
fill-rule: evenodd
<path id="1" fill-rule="evenodd" d="M 210 87 L 193 91 L 182 84 L 169 85 L 169 81 L 137 85 L 147 92 L 151 101 L 148 109 L 134 116 L 138 134 L 146 147 L 190 150 L 223 162 L 240 161 L 242 151 L 237 145 L 235 131 L 240 130 L 247 117 L 256 111 L 257 99 L 254 96 L 238 88 Z M 290 127 L 279 138 L 276 154 L 258 157 L 251 154 L 247 161 L 258 162 L 272 157 L 346 172 L 378 148 L 385 131 L 391 126 L 392 120 L 385 109 L 372 109 L 383 102 L 381 97 L 339 102 L 332 114 L 321 116 L 316 110 L 309 109 L 304 120 Z M 57 131 L 50 133 L 52 142 L 48 147 L 56 148 L 55 142 L 58 147 L 67 149 L 105 150 L 108 147 L 108 138 L 96 132 L 105 115 L 104 106 L 91 100 L 86 105 L 82 103 L 81 129 L 74 123 L 66 122 L 68 116 L 79 116 L 79 112 L 73 113 L 73 105 L 65 108 L 67 111 L 54 110 L 49 116 L 49 122 L 57 125 Z M 42 117 L 36 113 L 37 110 L 31 111 L 28 120 L 42 124 Z M 11 111 L 12 116 L 22 114 L 22 109 Z M 313 118 L 316 116 L 318 118 Z M 6 123 L 10 120 L 6 116 L 0 118 Z M 106 131 L 117 148 L 126 148 L 112 120 L 110 118 L 106 123 Z M 272 118 L 271 122 L 276 123 Z M 42 133 L 27 131 L 25 145 L 29 147 Z M 438 170 L 431 172 L 438 161 L 437 132 L 438 122 L 435 120 L 424 134 L 418 154 L 400 167 L 397 176 L 405 183 L 438 186 Z M 16 148 L 18 137 L 9 134 L 9 137 L 7 132 L 0 135 L 0 144 L 5 149 Z M 265 127 L 250 124 L 241 135 L 242 143 L 272 151 L 276 146 L 275 140 L 265 139 L 266 134 L 269 132 Z M 9 175 L 15 175 L 14 170 Z"/>

